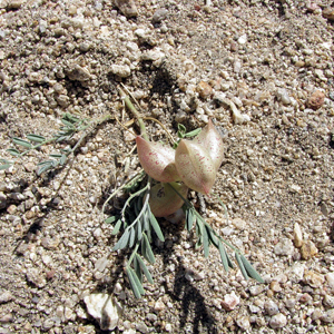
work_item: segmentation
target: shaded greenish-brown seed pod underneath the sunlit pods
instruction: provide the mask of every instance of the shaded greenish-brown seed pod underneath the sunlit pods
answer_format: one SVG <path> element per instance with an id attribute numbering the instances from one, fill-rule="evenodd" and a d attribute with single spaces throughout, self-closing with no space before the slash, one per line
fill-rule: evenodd
<path id="1" fill-rule="evenodd" d="M 171 186 L 185 198 L 188 187 L 185 184 L 170 183 Z M 157 184 L 150 189 L 148 204 L 156 217 L 166 217 L 177 212 L 184 200 L 174 191 L 169 184 Z"/>

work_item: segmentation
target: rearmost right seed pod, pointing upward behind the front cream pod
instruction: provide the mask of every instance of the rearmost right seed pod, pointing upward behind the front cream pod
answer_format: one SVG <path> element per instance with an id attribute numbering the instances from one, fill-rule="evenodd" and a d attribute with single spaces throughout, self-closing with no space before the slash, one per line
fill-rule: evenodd
<path id="1" fill-rule="evenodd" d="M 218 170 L 224 157 L 224 143 L 220 134 L 210 119 L 193 141 L 199 144 L 208 151 L 215 164 L 216 170 Z"/>

